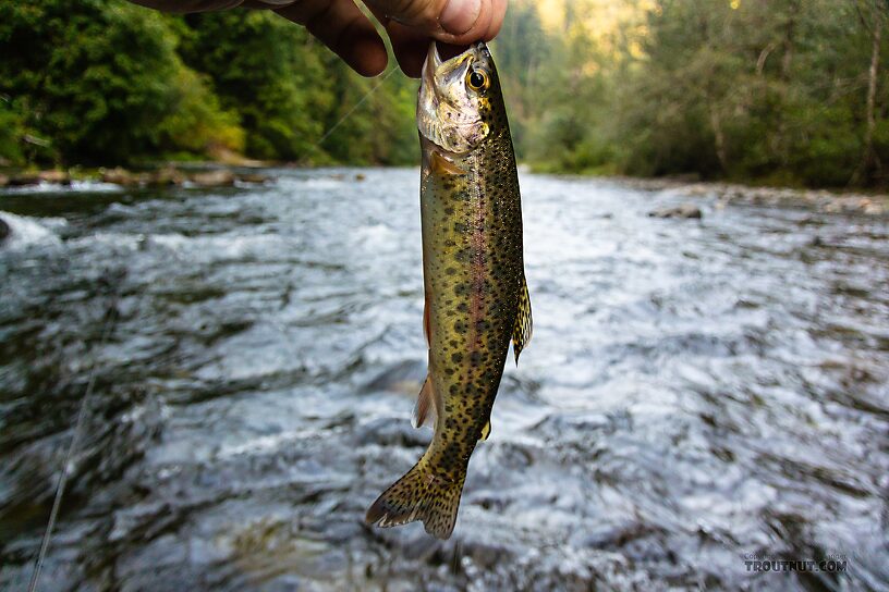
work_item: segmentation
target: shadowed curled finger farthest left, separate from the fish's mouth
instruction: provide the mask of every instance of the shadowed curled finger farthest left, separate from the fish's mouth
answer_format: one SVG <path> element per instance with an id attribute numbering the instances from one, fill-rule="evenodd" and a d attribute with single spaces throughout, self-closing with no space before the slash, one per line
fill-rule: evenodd
<path id="1" fill-rule="evenodd" d="M 386 46 L 352 0 L 300 0 L 275 12 L 304 25 L 362 76 L 386 70 Z"/>

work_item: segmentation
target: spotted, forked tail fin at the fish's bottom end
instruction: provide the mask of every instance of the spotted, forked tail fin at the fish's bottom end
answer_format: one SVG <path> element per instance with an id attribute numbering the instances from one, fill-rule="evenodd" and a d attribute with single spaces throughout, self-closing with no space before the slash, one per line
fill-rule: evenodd
<path id="1" fill-rule="evenodd" d="M 382 492 L 365 521 L 380 527 L 398 527 L 422 520 L 426 532 L 449 539 L 456 522 L 463 478 L 456 482 L 437 477 L 421 459 L 407 474 Z"/>

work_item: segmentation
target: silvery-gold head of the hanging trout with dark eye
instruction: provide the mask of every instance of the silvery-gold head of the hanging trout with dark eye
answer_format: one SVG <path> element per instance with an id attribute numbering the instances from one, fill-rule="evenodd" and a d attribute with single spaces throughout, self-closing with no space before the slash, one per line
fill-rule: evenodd
<path id="1" fill-rule="evenodd" d="M 500 84 L 484 42 L 443 60 L 429 44 L 417 100 L 421 135 L 453 155 L 465 155 L 490 134 L 491 98 Z"/>

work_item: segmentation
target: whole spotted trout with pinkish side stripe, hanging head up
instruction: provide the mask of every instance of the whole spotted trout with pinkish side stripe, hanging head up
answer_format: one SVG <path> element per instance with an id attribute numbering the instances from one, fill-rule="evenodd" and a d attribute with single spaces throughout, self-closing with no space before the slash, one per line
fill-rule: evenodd
<path id="1" fill-rule="evenodd" d="M 428 373 L 412 422 L 434 431 L 416 465 L 365 520 L 379 527 L 421 520 L 444 540 L 456 522 L 470 457 L 490 434 L 509 344 L 517 366 L 533 323 L 515 153 L 484 42 L 449 60 L 430 44 L 416 118 Z"/>

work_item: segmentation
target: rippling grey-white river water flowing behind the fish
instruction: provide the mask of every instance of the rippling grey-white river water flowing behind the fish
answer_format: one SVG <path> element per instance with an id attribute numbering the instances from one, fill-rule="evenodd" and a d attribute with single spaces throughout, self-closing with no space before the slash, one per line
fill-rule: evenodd
<path id="1" fill-rule="evenodd" d="M 271 173 L 0 196 L 1 589 L 94 372 L 40 590 L 889 589 L 886 219 L 523 175 L 534 338 L 440 542 L 362 522 L 430 436 L 418 172 Z"/>

